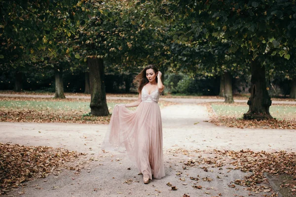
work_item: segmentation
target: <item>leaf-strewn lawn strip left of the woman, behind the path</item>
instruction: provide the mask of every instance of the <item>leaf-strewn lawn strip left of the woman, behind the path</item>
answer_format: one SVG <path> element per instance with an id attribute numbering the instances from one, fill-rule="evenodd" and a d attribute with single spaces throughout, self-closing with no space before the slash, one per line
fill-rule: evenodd
<path id="1" fill-rule="evenodd" d="M 133 100 L 108 100 L 109 112 L 117 103 L 130 103 Z M 42 99 L 42 98 L 0 98 L 1 122 L 63 122 L 109 124 L 109 116 L 90 115 L 89 99 Z M 174 104 L 160 101 L 160 107 Z M 135 110 L 136 107 L 129 108 Z"/>

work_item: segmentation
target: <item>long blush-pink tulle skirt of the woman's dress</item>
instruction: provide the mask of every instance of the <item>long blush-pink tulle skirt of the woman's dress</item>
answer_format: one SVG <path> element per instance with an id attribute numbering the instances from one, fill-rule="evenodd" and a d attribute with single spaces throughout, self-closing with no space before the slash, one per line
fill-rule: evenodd
<path id="1" fill-rule="evenodd" d="M 165 176 L 162 153 L 162 123 L 157 103 L 141 102 L 136 111 L 115 106 L 102 149 L 127 151 L 149 179 Z"/>

